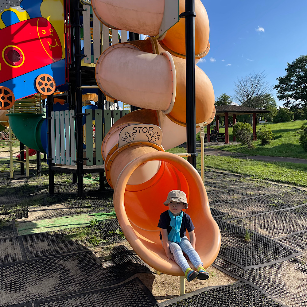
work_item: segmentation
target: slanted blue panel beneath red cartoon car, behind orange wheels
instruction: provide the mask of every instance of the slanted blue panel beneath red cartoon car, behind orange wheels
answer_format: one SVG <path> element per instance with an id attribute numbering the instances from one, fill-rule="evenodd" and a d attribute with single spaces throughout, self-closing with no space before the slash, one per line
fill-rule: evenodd
<path id="1" fill-rule="evenodd" d="M 35 58 L 33 58 L 33 61 L 34 60 Z M 28 72 L 22 76 L 2 82 L 0 83 L 0 86 L 8 87 L 10 90 L 13 91 L 15 99 L 21 99 L 23 97 L 34 95 L 36 93 L 36 89 L 34 88 L 34 82 L 36 77 L 40 74 L 51 75 L 56 82 L 56 86 L 65 84 L 65 59 L 33 70 L 33 72 Z"/>

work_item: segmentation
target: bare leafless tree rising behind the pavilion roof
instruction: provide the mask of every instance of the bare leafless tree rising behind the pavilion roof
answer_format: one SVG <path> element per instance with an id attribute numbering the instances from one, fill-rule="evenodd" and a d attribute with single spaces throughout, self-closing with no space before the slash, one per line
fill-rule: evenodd
<path id="1" fill-rule="evenodd" d="M 253 72 L 240 79 L 237 77 L 238 81 L 234 82 L 234 98 L 243 107 L 261 107 L 264 95 L 272 90 L 272 87 L 265 81 L 265 78 L 264 72 Z"/>

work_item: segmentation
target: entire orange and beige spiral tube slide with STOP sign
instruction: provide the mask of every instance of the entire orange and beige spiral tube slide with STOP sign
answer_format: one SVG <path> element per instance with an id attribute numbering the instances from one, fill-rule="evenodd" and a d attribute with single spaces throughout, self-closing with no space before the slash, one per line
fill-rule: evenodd
<path id="1" fill-rule="evenodd" d="M 184 2 L 180 0 L 181 10 Z M 152 36 L 158 34 L 164 4 L 163 0 L 92 0 L 96 16 L 105 25 Z M 208 16 L 200 0 L 195 1 L 195 11 L 196 58 L 201 58 L 208 52 Z M 101 54 L 95 70 L 97 84 L 106 95 L 143 108 L 115 122 L 103 140 L 105 172 L 114 188 L 119 223 L 146 263 L 180 276 L 184 273 L 167 260 L 157 228 L 160 214 L 167 209 L 163 201 L 169 191 L 180 189 L 187 195 L 186 212 L 195 225 L 196 251 L 204 267 L 212 264 L 220 250 L 220 230 L 198 172 L 181 157 L 165 152 L 186 141 L 184 23 L 180 20 L 161 41 L 148 38 L 111 46 Z M 214 113 L 212 84 L 196 67 L 196 123 L 212 122 Z M 134 140 L 132 133 L 122 142 L 122 131 L 141 131 L 144 125 L 160 131 L 162 142 L 145 136 L 140 139 L 137 134 Z"/>

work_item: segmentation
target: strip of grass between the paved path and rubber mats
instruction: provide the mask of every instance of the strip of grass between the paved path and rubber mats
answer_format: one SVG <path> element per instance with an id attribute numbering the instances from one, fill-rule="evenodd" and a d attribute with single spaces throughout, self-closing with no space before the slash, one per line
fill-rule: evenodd
<path id="1" fill-rule="evenodd" d="M 182 153 L 185 152 L 185 149 L 175 147 L 167 151 L 171 153 Z M 197 156 L 196 162 L 197 169 L 200 169 L 200 154 Z M 212 169 L 222 169 L 232 173 L 249 175 L 257 179 L 277 181 L 304 187 L 307 186 L 307 164 L 205 156 L 204 166 Z"/>

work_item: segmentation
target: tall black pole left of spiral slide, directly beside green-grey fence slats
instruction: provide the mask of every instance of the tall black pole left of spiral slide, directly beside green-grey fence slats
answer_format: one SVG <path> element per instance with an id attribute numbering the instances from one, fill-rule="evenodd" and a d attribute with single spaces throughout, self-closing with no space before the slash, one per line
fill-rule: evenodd
<path id="1" fill-rule="evenodd" d="M 83 129 L 82 129 L 82 90 L 81 86 L 81 42 L 80 42 L 80 1 L 74 0 L 74 45 L 76 75 L 76 127 L 77 127 L 77 187 L 78 197 L 83 198 Z"/>

